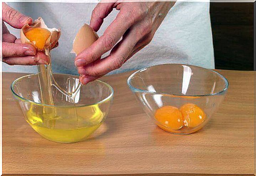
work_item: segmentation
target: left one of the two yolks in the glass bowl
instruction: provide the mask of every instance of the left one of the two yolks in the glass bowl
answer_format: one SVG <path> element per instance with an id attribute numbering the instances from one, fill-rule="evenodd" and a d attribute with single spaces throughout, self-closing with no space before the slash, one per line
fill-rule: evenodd
<path id="1" fill-rule="evenodd" d="M 162 125 L 163 130 L 178 130 L 183 126 L 183 118 L 180 110 L 173 106 L 164 106 L 155 112 L 155 119 Z"/>

